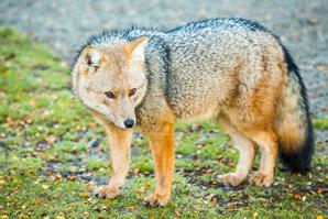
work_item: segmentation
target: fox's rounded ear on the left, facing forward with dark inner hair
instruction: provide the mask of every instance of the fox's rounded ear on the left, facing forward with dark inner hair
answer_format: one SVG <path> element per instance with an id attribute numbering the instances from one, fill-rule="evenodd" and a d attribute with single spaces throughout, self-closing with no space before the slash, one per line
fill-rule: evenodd
<path id="1" fill-rule="evenodd" d="M 101 51 L 96 48 L 95 46 L 88 45 L 81 53 L 81 67 L 85 73 L 96 72 L 100 66 L 103 54 Z"/>

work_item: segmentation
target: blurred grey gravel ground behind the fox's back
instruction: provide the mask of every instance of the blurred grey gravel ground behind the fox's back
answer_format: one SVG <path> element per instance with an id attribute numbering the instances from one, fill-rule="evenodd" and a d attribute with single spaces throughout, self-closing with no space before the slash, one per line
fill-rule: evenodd
<path id="1" fill-rule="evenodd" d="M 282 37 L 308 87 L 311 113 L 328 117 L 328 1 L 1 0 L 0 24 L 45 41 L 70 61 L 91 34 L 131 24 L 173 28 L 212 17 L 256 20 Z"/>

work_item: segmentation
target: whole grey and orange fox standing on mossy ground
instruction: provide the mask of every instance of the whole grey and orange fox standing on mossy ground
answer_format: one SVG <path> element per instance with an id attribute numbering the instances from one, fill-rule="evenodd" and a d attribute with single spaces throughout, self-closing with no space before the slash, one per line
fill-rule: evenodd
<path id="1" fill-rule="evenodd" d="M 73 90 L 103 124 L 112 175 L 97 193 L 114 198 L 129 168 L 131 136 L 150 141 L 155 165 L 151 206 L 171 199 L 174 124 L 214 119 L 240 153 L 227 186 L 270 186 L 280 154 L 292 172 L 306 173 L 313 127 L 306 88 L 277 36 L 245 19 L 209 19 L 168 31 L 131 28 L 92 36 L 78 52 Z M 260 168 L 250 174 L 261 153 Z"/>

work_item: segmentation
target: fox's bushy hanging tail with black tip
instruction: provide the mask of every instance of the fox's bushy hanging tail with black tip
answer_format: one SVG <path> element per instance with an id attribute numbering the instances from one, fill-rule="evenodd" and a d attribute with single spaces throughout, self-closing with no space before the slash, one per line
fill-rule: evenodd
<path id="1" fill-rule="evenodd" d="M 307 173 L 314 152 L 314 133 L 306 88 L 291 54 L 282 47 L 288 79 L 282 89 L 275 125 L 281 157 L 289 171 Z"/>

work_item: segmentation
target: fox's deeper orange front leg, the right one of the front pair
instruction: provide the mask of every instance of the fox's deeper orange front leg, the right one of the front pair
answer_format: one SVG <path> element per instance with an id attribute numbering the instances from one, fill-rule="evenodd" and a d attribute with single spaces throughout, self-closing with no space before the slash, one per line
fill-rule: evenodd
<path id="1" fill-rule="evenodd" d="M 171 198 L 174 172 L 174 125 L 165 123 L 147 134 L 155 164 L 155 190 L 145 199 L 150 206 L 165 206 Z"/>

